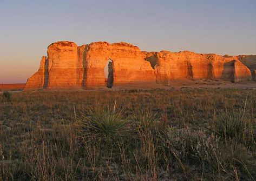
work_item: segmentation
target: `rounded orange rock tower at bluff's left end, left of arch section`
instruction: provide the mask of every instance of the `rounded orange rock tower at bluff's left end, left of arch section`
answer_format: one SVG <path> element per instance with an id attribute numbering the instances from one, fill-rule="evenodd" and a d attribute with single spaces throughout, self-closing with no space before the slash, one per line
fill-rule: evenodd
<path id="1" fill-rule="evenodd" d="M 72 88 L 81 86 L 83 61 L 73 42 L 57 42 L 48 46 L 48 82 L 46 88 Z"/>

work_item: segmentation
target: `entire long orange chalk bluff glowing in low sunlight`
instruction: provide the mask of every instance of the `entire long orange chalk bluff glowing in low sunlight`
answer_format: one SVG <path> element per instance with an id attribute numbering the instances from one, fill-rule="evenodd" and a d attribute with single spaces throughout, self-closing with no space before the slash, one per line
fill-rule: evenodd
<path id="1" fill-rule="evenodd" d="M 174 80 L 224 79 L 256 81 L 256 56 L 220 56 L 181 52 L 146 52 L 128 43 L 94 42 L 77 46 L 56 42 L 48 46 L 40 68 L 24 90 L 107 86 L 104 66 L 111 60 L 113 85 L 159 83 Z"/>

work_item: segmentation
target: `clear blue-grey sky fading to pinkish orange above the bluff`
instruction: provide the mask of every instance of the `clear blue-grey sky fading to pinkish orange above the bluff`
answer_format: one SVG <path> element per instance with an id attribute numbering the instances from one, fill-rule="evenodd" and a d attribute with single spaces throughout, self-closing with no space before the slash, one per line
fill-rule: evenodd
<path id="1" fill-rule="evenodd" d="M 0 82 L 25 83 L 57 41 L 256 55 L 255 9 L 255 0 L 0 0 Z"/>

